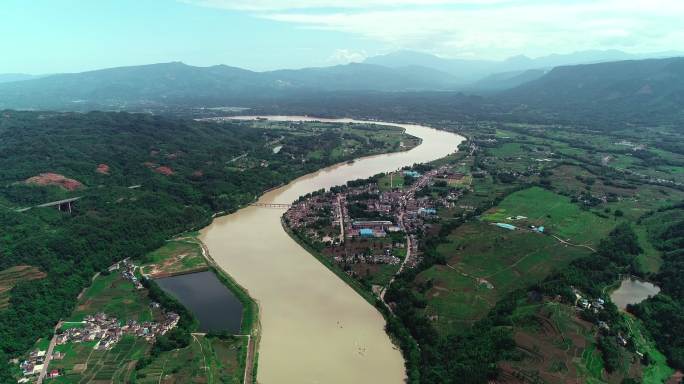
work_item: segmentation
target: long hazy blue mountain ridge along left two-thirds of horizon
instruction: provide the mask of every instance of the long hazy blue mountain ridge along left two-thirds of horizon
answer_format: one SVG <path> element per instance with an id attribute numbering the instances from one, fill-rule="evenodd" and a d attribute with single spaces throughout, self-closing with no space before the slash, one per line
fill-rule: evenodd
<path id="1" fill-rule="evenodd" d="M 0 108 L 55 108 L 83 103 L 125 107 L 277 97 L 297 92 L 382 92 L 454 89 L 451 75 L 438 70 L 372 64 L 253 72 L 180 62 L 58 74 L 0 84 Z"/>

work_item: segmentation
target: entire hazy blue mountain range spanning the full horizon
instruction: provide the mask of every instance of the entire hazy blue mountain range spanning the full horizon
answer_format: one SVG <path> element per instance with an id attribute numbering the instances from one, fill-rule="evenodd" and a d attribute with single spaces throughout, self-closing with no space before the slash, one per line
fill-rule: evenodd
<path id="1" fill-rule="evenodd" d="M 553 55 L 539 59 L 511 58 L 479 62 L 490 70 L 463 85 L 455 68 L 464 60 L 400 52 L 369 60 L 379 64 L 348 64 L 322 68 L 254 72 L 217 65 L 195 67 L 180 62 L 58 74 L 0 84 L 0 109 L 146 109 L 173 106 L 248 105 L 307 95 L 377 92 L 418 94 L 423 91 L 486 93 L 487 100 L 532 108 L 581 113 L 614 109 L 634 113 L 674 112 L 684 108 L 684 58 L 621 60 L 596 64 L 524 69 L 600 57 L 622 57 L 618 51 Z M 421 58 L 423 61 L 389 58 Z M 382 59 L 382 60 L 381 60 Z M 437 64 L 441 63 L 440 65 Z M 484 64 L 488 63 L 488 64 Z M 446 64 L 451 65 L 447 68 Z M 467 62 L 474 71 L 476 65 Z M 481 70 L 482 68 L 478 69 Z M 517 68 L 517 69 L 516 69 Z M 449 70 L 447 72 L 446 70 Z M 471 73 L 472 73 L 471 71 Z M 677 112 L 679 111 L 679 112 Z M 664 113 L 664 112 L 663 112 Z"/>

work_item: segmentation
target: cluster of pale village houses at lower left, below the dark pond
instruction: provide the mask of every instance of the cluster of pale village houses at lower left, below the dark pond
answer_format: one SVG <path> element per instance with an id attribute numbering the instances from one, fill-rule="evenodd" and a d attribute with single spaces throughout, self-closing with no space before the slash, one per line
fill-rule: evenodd
<path id="1" fill-rule="evenodd" d="M 107 350 L 111 349 L 124 335 L 134 335 L 152 341 L 157 335 L 163 335 L 176 327 L 179 319 L 180 316 L 177 313 L 166 312 L 164 320 L 160 323 L 128 320 L 122 325 L 116 317 L 98 313 L 95 316 L 87 316 L 82 327 L 69 328 L 57 335 L 56 342 L 65 344 L 97 341 L 95 349 Z"/>

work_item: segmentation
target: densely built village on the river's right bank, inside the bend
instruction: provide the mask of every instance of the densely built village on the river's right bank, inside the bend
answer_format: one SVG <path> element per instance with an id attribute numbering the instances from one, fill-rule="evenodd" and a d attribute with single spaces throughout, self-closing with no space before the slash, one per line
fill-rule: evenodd
<path id="1" fill-rule="evenodd" d="M 453 182 L 464 175 L 442 166 L 385 177 L 388 188 L 371 179 L 305 196 L 284 221 L 352 277 L 372 275 L 378 266 L 395 266 L 395 272 L 413 268 L 421 261 L 419 238 L 439 219 L 440 207 L 455 206 L 462 191 Z M 433 186 L 442 187 L 442 193 L 432 193 Z"/>

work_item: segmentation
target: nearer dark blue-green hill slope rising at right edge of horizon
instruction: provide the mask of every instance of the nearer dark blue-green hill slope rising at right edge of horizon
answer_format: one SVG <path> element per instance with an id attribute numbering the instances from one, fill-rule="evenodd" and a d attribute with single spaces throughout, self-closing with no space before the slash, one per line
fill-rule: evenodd
<path id="1" fill-rule="evenodd" d="M 499 99 L 560 114 L 681 114 L 684 58 L 556 67 Z"/>

